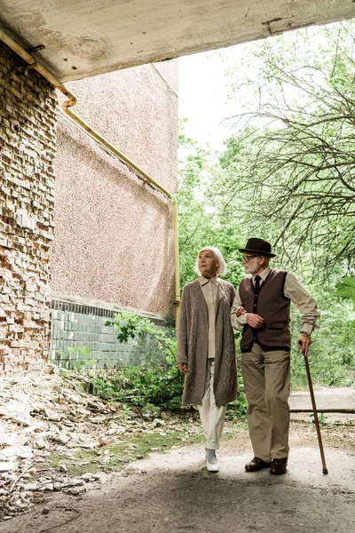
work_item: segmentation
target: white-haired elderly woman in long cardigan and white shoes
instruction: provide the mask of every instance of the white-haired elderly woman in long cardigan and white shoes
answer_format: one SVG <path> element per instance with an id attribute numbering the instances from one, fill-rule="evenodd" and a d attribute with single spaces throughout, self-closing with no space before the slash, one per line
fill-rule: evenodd
<path id="1" fill-rule="evenodd" d="M 177 329 L 177 367 L 185 373 L 183 403 L 197 404 L 206 435 L 206 465 L 218 472 L 216 450 L 223 431 L 226 405 L 237 394 L 237 365 L 230 313 L 233 285 L 217 248 L 199 251 L 200 277 L 183 290 Z"/>

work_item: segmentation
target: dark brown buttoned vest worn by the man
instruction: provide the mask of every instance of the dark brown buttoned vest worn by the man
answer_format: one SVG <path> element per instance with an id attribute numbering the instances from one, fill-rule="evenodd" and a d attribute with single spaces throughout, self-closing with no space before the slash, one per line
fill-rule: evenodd
<path id="1" fill-rule="evenodd" d="M 244 326 L 241 337 L 241 352 L 250 352 L 254 343 L 264 351 L 289 351 L 291 335 L 288 327 L 290 300 L 284 296 L 286 270 L 272 269 L 257 295 L 251 277 L 241 280 L 239 293 L 241 304 L 248 313 L 264 318 L 262 328 L 254 330 Z"/>

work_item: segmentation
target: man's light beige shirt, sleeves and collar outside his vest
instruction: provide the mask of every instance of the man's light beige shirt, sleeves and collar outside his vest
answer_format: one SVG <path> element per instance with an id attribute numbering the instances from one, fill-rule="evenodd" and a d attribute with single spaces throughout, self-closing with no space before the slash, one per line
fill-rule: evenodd
<path id="1" fill-rule="evenodd" d="M 271 267 L 266 267 L 261 274 L 258 274 L 261 277 L 260 285 L 264 283 L 270 271 Z M 252 274 L 251 277 L 253 283 L 255 284 L 255 274 Z M 302 325 L 300 329 L 301 333 L 304 332 L 308 335 L 311 335 L 312 330 L 319 328 L 319 326 L 316 324 L 316 321 L 319 318 L 319 311 L 317 309 L 316 301 L 312 298 L 310 293 L 304 289 L 304 287 L 296 278 L 296 275 L 291 274 L 290 272 L 286 274 L 283 292 L 284 296 L 289 298 L 302 313 Z M 248 313 L 241 314 L 241 316 L 238 317 L 234 314 L 235 309 L 241 305 L 241 296 L 239 289 L 237 289 L 231 310 L 232 325 L 235 330 L 242 330 L 244 325 L 247 323 Z"/>

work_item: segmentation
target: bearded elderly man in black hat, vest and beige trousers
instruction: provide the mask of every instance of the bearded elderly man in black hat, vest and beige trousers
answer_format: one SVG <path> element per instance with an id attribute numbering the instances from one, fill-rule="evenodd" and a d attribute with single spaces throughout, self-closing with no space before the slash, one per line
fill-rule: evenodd
<path id="1" fill-rule="evenodd" d="M 241 280 L 232 307 L 232 324 L 242 330 L 241 371 L 248 400 L 248 427 L 255 457 L 247 472 L 269 468 L 286 473 L 291 336 L 290 302 L 302 313 L 298 346 L 307 355 L 319 317 L 317 304 L 295 275 L 269 266 L 271 244 L 251 238 L 243 253 L 247 277 Z"/>

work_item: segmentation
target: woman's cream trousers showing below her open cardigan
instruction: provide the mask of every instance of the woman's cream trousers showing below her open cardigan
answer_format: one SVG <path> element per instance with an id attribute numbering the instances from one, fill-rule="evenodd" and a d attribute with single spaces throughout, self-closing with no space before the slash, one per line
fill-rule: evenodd
<path id="1" fill-rule="evenodd" d="M 206 435 L 206 449 L 219 449 L 223 426 L 225 423 L 226 405 L 217 407 L 213 392 L 215 360 L 207 360 L 206 386 L 202 405 L 198 405 L 203 431 Z"/>

